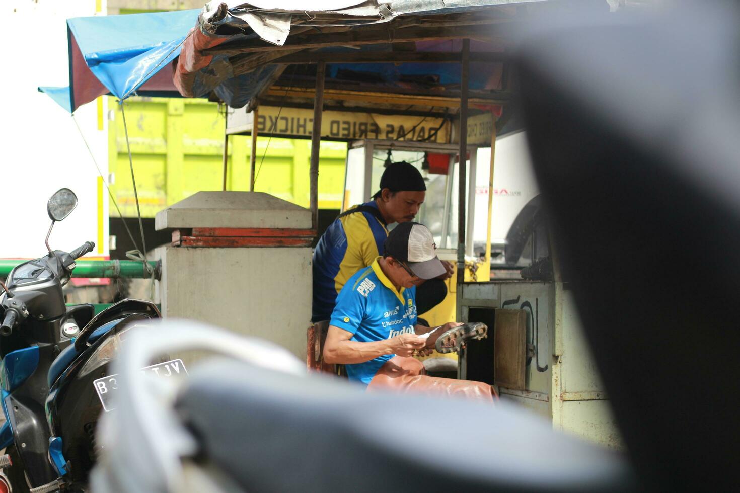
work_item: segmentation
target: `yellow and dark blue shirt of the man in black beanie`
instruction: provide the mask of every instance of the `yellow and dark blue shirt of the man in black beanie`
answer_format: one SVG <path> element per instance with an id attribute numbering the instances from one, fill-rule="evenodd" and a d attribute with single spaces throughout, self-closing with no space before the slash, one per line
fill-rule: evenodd
<path id="1" fill-rule="evenodd" d="M 363 205 L 377 209 L 374 200 Z M 355 205 L 352 209 L 357 207 Z M 387 237 L 386 225 L 370 212 L 340 214 L 332 222 L 314 250 L 312 322 L 329 320 L 337 294 L 351 276 L 383 254 L 383 243 Z"/>

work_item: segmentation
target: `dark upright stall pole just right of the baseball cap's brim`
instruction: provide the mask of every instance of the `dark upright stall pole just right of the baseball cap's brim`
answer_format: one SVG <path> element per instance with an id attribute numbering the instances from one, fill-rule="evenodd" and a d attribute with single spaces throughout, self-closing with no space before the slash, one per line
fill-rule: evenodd
<path id="1" fill-rule="evenodd" d="M 460 71 L 460 168 L 457 169 L 457 284 L 465 281 L 465 161 L 468 154 L 468 75 L 470 40 L 462 40 Z M 471 197 L 471 200 L 474 197 Z M 459 290 L 460 288 L 458 288 Z"/>

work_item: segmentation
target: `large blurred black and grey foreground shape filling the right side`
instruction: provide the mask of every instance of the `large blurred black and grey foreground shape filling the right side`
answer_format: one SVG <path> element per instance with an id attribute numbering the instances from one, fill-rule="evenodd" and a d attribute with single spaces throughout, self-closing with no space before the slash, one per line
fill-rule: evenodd
<path id="1" fill-rule="evenodd" d="M 565 281 L 639 475 L 650 489 L 729 491 L 740 16 L 724 2 L 679 5 L 548 19 L 519 75 Z"/>

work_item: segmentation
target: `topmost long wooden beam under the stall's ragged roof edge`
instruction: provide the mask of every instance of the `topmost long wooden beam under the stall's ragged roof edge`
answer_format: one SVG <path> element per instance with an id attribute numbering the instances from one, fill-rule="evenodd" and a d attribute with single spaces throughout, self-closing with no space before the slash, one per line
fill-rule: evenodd
<path id="1" fill-rule="evenodd" d="M 495 33 L 489 25 L 465 25 L 455 27 L 406 27 L 402 29 L 356 28 L 344 33 L 319 33 L 295 36 L 287 39 L 283 46 L 266 41 L 249 40 L 224 43 L 203 50 L 204 55 L 239 55 L 240 53 L 277 52 L 284 50 L 306 50 L 308 48 L 362 46 L 365 44 L 401 43 L 406 41 L 434 41 L 457 38 L 490 38 Z"/>

